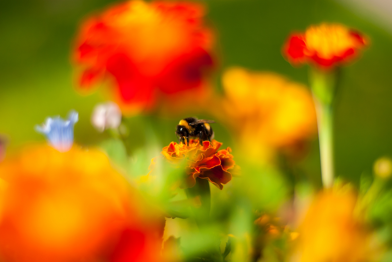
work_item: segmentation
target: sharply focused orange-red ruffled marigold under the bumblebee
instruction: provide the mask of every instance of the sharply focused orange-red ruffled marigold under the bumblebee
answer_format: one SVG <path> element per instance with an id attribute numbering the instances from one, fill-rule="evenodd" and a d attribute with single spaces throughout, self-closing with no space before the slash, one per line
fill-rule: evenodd
<path id="1" fill-rule="evenodd" d="M 203 141 L 189 140 L 189 146 L 171 142 L 167 147 L 163 147 L 162 154 L 172 163 L 179 163 L 181 160 L 187 162 L 187 178 L 180 185 L 181 188 L 193 187 L 196 178 L 208 179 L 211 183 L 222 189 L 223 184 L 231 180 L 229 169 L 234 168 L 235 162 L 230 147 L 218 150 L 222 143 L 212 140 Z"/>

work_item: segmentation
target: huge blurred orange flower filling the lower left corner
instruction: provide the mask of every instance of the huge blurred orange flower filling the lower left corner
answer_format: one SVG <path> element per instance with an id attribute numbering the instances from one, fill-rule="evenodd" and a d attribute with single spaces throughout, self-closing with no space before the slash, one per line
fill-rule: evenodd
<path id="1" fill-rule="evenodd" d="M 126 261 L 156 261 L 163 225 L 142 219 L 136 194 L 101 151 L 36 145 L 5 160 L 0 177 L 0 260 L 118 262 L 131 246 Z"/>

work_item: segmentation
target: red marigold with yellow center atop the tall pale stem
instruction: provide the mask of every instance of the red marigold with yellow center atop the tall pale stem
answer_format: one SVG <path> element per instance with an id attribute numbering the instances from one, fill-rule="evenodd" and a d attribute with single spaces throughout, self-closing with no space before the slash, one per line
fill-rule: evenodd
<path id="1" fill-rule="evenodd" d="M 367 40 L 358 31 L 340 24 L 311 25 L 304 34 L 292 34 L 284 47 L 290 63 L 313 63 L 330 68 L 358 56 Z"/>

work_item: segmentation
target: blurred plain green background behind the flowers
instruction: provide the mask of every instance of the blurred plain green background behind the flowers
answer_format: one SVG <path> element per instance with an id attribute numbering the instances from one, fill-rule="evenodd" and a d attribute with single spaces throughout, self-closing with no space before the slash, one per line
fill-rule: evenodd
<path id="1" fill-rule="evenodd" d="M 75 91 L 69 57 L 80 20 L 110 2 L 0 1 L 0 133 L 9 138 L 10 151 L 43 140 L 34 125 L 49 115 L 65 117 L 70 109 L 80 113 L 75 126 L 78 143 L 103 139 L 89 118 L 104 97 Z M 387 30 L 328 0 L 207 0 L 205 4 L 208 23 L 217 32 L 217 88 L 221 71 L 233 65 L 278 72 L 306 84 L 308 68 L 293 68 L 281 56 L 281 46 L 290 31 L 303 31 L 312 23 L 340 22 L 367 34 L 370 48 L 341 72 L 335 101 L 336 173 L 358 182 L 362 172 L 371 172 L 376 158 L 392 155 L 392 36 Z M 162 146 L 176 139 L 173 128 L 178 119 L 154 122 L 163 133 Z M 216 132 L 221 133 L 218 140 L 230 145 L 224 127 L 217 124 L 215 129 L 222 130 Z M 317 141 L 311 153 L 303 165 L 319 177 Z"/>

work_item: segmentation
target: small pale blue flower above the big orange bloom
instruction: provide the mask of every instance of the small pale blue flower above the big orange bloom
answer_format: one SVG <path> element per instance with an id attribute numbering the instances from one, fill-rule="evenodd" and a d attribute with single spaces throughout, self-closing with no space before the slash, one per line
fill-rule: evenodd
<path id="1" fill-rule="evenodd" d="M 72 147 L 76 122 L 78 122 L 78 112 L 72 110 L 68 113 L 67 120 L 60 116 L 48 117 L 44 124 L 36 125 L 35 130 L 44 134 L 52 147 L 60 152 L 66 152 Z"/>

